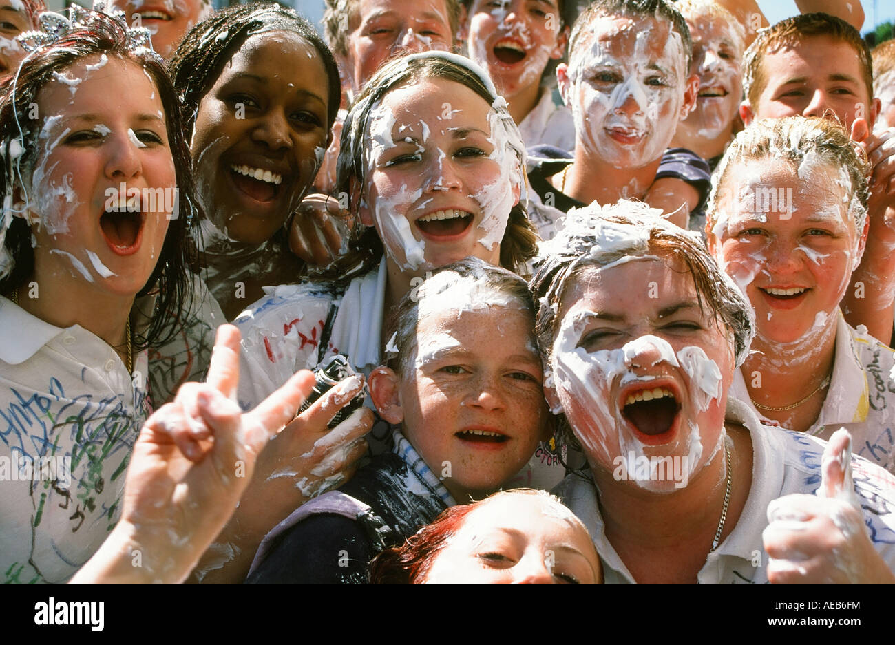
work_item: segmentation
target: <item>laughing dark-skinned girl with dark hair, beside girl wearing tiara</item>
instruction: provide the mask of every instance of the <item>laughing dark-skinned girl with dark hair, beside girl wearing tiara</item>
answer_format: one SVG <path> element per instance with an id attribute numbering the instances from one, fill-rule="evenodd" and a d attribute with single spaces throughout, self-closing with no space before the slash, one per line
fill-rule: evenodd
<path id="1" fill-rule="evenodd" d="M 265 284 L 294 282 L 287 219 L 311 186 L 339 103 L 336 62 L 311 25 L 277 4 L 228 7 L 171 61 L 183 93 L 208 261 L 227 319 Z"/>

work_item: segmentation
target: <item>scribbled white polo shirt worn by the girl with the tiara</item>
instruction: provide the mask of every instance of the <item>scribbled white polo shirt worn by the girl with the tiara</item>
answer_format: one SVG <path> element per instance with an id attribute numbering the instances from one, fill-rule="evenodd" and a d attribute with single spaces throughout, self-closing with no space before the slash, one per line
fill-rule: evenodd
<path id="1" fill-rule="evenodd" d="M 0 579 L 64 582 L 118 520 L 149 416 L 147 353 L 134 357 L 132 377 L 98 336 L 3 297 L 0 329 Z M 25 457 L 38 467 L 21 472 Z"/>

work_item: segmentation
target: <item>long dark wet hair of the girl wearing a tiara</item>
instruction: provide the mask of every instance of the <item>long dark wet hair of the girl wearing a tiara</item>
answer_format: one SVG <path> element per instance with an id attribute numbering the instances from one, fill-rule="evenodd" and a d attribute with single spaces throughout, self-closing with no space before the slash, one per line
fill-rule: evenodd
<path id="1" fill-rule="evenodd" d="M 26 220 L 13 216 L 7 204 L 16 201 L 16 192 L 26 189 L 26 182 L 38 163 L 38 134 L 41 121 L 31 119 L 30 109 L 38 94 L 54 74 L 64 72 L 81 59 L 92 55 L 130 61 L 149 74 L 158 89 L 165 110 L 165 124 L 171 156 L 174 159 L 177 182 L 176 216 L 170 220 L 158 262 L 149 281 L 137 297 L 158 293 L 155 311 L 145 332 L 134 333 L 138 349 L 164 344 L 178 329 L 172 325 L 179 311 L 189 308 L 192 289 L 188 271 L 197 267 L 195 257 L 196 233 L 193 226 L 200 214 L 190 172 L 190 151 L 183 139 L 179 102 L 165 63 L 150 48 L 132 47 L 124 21 L 90 10 L 81 10 L 86 24 L 55 42 L 39 47 L 25 57 L 18 74 L 0 87 L 0 150 L 3 151 L 3 170 L 0 172 L 0 193 L 4 195 L 4 217 L 11 217 L 4 239 L 4 250 L 12 257 L 12 267 L 0 267 L 0 291 L 10 293 L 24 284 L 34 273 L 34 250 L 31 231 Z M 13 148 L 11 148 L 11 146 Z M 13 155 L 18 147 L 21 154 Z M 2 230 L 2 226 L 0 226 Z M 5 268 L 5 271 L 4 271 Z M 137 326 L 141 327 L 141 326 Z"/>

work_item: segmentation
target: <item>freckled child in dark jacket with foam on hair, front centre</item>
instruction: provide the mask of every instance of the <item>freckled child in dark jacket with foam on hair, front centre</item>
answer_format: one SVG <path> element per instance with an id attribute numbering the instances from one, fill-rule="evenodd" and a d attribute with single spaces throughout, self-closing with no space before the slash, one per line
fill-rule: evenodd
<path id="1" fill-rule="evenodd" d="M 407 293 L 369 378 L 392 452 L 277 526 L 250 581 L 367 581 L 382 548 L 506 486 L 548 428 L 533 309 L 522 278 L 475 258 Z"/>

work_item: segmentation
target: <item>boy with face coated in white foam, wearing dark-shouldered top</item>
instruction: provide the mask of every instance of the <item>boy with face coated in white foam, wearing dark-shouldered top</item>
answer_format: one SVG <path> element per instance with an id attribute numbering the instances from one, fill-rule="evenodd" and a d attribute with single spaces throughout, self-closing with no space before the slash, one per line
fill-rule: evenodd
<path id="1" fill-rule="evenodd" d="M 571 156 L 533 149 L 529 174 L 541 203 L 532 219 L 549 239 L 562 213 L 596 200 L 644 199 L 687 225 L 708 191 L 703 159 L 667 150 L 695 106 L 686 21 L 665 0 L 597 0 L 575 21 L 559 90 L 575 120 Z M 669 190 L 669 184 L 670 189 Z"/>

